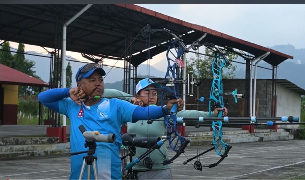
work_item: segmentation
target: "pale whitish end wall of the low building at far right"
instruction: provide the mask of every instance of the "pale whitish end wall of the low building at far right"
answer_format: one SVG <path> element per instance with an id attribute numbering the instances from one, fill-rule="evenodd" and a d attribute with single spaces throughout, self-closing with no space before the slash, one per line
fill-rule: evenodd
<path id="1" fill-rule="evenodd" d="M 276 86 L 276 116 L 301 116 L 301 96 L 285 88 L 282 85 Z M 279 125 L 278 128 L 297 128 L 299 125 Z"/>

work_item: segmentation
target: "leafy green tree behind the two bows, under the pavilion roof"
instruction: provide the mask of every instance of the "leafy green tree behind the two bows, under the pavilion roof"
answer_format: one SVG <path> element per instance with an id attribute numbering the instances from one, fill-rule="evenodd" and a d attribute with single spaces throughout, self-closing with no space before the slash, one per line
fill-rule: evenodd
<path id="1" fill-rule="evenodd" d="M 223 51 L 229 61 L 236 59 L 238 56 L 230 51 Z M 202 56 L 196 54 L 195 57 L 191 57 L 186 61 L 186 72 L 193 71 L 194 77 L 197 78 L 213 78 L 213 72 L 211 70 L 212 63 L 217 55 L 217 52 L 205 48 L 205 54 L 208 56 Z M 230 63 L 222 69 L 222 78 L 234 78 L 236 65 Z"/>

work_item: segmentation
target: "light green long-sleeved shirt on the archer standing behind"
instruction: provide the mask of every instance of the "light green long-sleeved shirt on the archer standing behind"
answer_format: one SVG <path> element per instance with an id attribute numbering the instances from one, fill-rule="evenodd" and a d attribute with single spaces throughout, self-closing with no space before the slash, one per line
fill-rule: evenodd
<path id="1" fill-rule="evenodd" d="M 103 96 L 118 97 L 118 99 L 123 99 L 129 101 L 130 103 L 132 99 L 131 95 L 115 89 L 105 89 Z M 212 115 L 214 115 L 213 112 Z M 176 116 L 188 117 L 188 118 L 210 117 L 209 112 L 197 111 L 197 110 L 182 110 L 179 111 Z M 163 119 L 164 118 L 160 118 L 160 120 Z M 127 123 L 127 133 L 136 134 L 136 137 L 148 137 L 148 136 L 161 137 L 164 135 L 165 130 L 166 130 L 166 125 L 163 123 L 163 121 L 153 121 L 152 124 L 147 124 L 147 120 L 137 121 L 136 123 L 130 123 L 130 122 Z M 136 147 L 136 157 L 141 156 L 146 151 L 147 151 L 146 148 Z M 136 157 L 133 158 L 135 159 Z M 150 153 L 148 157 L 152 159 L 153 163 L 157 163 L 152 165 L 152 170 L 162 170 L 162 169 L 170 168 L 170 164 L 167 164 L 165 166 L 161 164 L 163 163 L 163 161 L 169 159 L 169 154 L 165 145 L 161 146 L 160 149 L 156 149 L 152 151 L 152 153 Z M 142 159 L 141 162 L 136 164 L 132 169 L 137 171 L 148 170 L 143 166 L 143 160 L 144 159 Z"/>

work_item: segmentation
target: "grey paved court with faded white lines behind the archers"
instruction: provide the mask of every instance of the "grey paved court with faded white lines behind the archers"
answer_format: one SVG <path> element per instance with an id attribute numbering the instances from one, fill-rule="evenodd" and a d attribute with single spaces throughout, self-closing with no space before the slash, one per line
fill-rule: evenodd
<path id="1" fill-rule="evenodd" d="M 184 155 L 172 164 L 174 179 L 305 179 L 305 140 L 272 141 L 232 144 L 229 156 L 217 167 L 195 170 L 183 165 Z M 210 146 L 200 146 L 201 151 Z M 170 156 L 174 155 L 169 151 Z M 189 158 L 197 154 L 196 146 L 186 149 Z M 216 162 L 214 152 L 200 160 Z M 68 179 L 70 155 L 1 160 L 0 179 Z"/>

